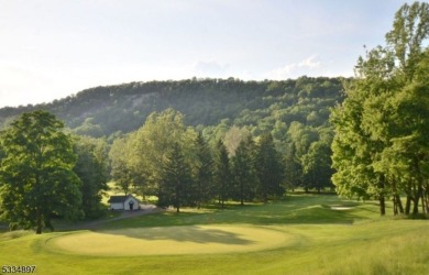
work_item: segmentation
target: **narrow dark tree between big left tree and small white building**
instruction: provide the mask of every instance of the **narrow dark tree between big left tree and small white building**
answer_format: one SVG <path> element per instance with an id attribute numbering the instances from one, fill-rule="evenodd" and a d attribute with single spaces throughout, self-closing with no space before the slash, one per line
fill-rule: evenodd
<path id="1" fill-rule="evenodd" d="M 88 136 L 75 136 L 74 150 L 77 162 L 74 172 L 82 185 L 82 210 L 85 217 L 97 218 L 102 215 L 101 198 L 108 190 L 108 154 L 103 140 Z"/>

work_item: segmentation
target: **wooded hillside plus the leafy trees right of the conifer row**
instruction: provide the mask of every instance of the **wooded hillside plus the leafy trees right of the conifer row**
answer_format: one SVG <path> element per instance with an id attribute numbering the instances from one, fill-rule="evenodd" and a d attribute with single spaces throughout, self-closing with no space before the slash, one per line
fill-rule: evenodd
<path id="1" fill-rule="evenodd" d="M 0 121 L 7 128 L 20 113 L 42 109 L 64 121 L 73 134 L 112 144 L 142 128 L 151 113 L 173 109 L 210 146 L 221 140 L 230 156 L 248 135 L 255 140 L 270 133 L 285 163 L 285 186 L 320 190 L 332 186 L 330 109 L 343 101 L 343 85 L 350 80 L 304 76 L 284 81 L 131 82 L 87 89 L 51 103 L 3 108 Z"/>

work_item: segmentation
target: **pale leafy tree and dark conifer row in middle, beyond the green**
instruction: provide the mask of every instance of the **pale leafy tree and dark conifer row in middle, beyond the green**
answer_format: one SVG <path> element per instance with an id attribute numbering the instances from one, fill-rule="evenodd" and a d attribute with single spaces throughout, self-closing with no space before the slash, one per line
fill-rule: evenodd
<path id="1" fill-rule="evenodd" d="M 256 141 L 244 133 L 228 150 L 186 128 L 173 109 L 152 113 L 144 125 L 116 140 L 110 151 L 112 177 L 127 194 L 155 195 L 160 207 L 201 207 L 212 200 L 266 201 L 283 196 L 284 163 L 273 136 Z M 229 144 L 229 143 L 228 143 Z"/>

